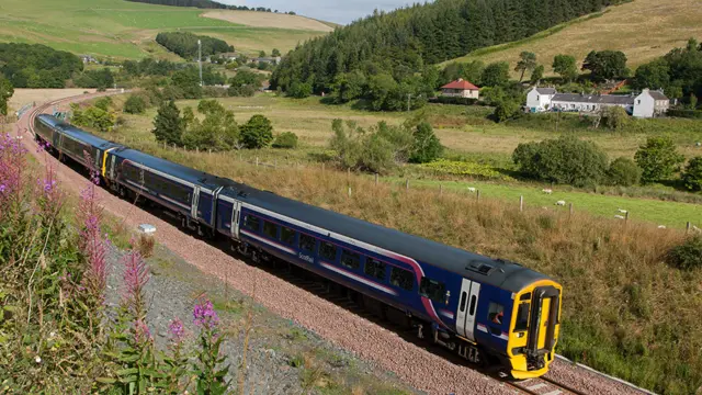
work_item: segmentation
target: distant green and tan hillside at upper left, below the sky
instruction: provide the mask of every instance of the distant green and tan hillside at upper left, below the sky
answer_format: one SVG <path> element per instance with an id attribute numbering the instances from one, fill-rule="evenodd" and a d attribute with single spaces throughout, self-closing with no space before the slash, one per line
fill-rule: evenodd
<path id="1" fill-rule="evenodd" d="M 117 58 L 173 58 L 155 42 L 161 31 L 192 31 L 222 38 L 237 50 L 258 54 L 273 48 L 284 53 L 330 30 L 296 15 L 220 11 L 236 12 L 233 23 L 227 18 L 202 18 L 207 11 L 122 0 L 2 0 L 0 42 L 41 43 L 76 54 Z M 272 22 L 265 22 L 269 18 Z M 301 21 L 308 21 L 308 25 Z"/>

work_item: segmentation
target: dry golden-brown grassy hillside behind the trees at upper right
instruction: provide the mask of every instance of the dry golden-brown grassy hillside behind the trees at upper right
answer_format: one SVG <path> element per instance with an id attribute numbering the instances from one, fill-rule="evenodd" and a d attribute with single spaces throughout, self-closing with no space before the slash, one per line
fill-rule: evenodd
<path id="1" fill-rule="evenodd" d="M 612 7 L 602 14 L 593 14 L 573 23 L 565 23 L 521 42 L 477 49 L 450 61 L 485 63 L 508 60 L 514 68 L 519 54 L 529 50 L 551 72 L 553 57 L 573 55 L 581 61 L 592 49 L 622 50 L 629 67 L 667 54 L 673 47 L 684 47 L 689 37 L 702 36 L 702 7 L 690 0 L 634 0 Z"/>

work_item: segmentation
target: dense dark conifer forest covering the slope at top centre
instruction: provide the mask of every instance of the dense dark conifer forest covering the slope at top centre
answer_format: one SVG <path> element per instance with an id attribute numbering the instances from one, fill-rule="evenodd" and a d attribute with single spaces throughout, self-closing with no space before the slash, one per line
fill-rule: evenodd
<path id="1" fill-rule="evenodd" d="M 388 75 L 403 84 L 415 74 L 474 49 L 528 37 L 623 0 L 439 0 L 373 15 L 292 50 L 272 76 L 328 91 L 339 76 Z M 392 84 L 387 77 L 384 77 Z"/>

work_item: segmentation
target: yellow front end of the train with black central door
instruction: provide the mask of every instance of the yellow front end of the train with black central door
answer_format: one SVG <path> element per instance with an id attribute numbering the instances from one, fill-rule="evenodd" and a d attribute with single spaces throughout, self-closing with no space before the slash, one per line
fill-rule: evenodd
<path id="1" fill-rule="evenodd" d="M 536 281 L 514 295 L 507 353 L 514 379 L 539 377 L 555 358 L 561 329 L 562 286 Z"/>

